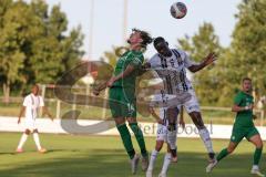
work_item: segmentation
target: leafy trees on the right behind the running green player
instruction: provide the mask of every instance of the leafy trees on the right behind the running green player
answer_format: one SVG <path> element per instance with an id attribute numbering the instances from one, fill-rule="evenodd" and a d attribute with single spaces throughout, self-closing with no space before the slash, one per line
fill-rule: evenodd
<path id="1" fill-rule="evenodd" d="M 200 27 L 193 37 L 177 40 L 177 46 L 200 61 L 207 51 L 218 53 L 213 67 L 194 75 L 194 86 L 205 105 L 232 105 L 243 77 L 253 80 L 257 102 L 266 94 L 266 0 L 243 0 L 229 46 L 223 48 L 211 23 Z"/>

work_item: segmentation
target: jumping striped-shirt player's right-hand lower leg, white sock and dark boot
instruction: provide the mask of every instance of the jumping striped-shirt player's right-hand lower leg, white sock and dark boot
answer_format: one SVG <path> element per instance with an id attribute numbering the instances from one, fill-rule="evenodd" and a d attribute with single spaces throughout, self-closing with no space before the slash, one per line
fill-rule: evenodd
<path id="1" fill-rule="evenodd" d="M 193 123 L 195 124 L 195 126 L 198 129 L 198 134 L 208 152 L 208 158 L 211 162 L 215 160 L 215 153 L 213 150 L 213 144 L 212 144 L 212 139 L 209 136 L 209 133 L 207 131 L 207 128 L 205 127 L 203 119 L 202 119 L 202 114 L 200 112 L 192 112 L 190 113 L 190 116 L 193 121 Z"/>

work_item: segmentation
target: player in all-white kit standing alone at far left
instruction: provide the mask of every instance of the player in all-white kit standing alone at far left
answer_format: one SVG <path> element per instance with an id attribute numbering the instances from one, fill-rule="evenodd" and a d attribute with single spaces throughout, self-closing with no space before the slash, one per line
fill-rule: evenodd
<path id="1" fill-rule="evenodd" d="M 21 116 L 24 113 L 24 125 L 25 125 L 25 131 L 22 134 L 19 145 L 17 147 L 17 153 L 22 153 L 23 152 L 23 145 L 28 138 L 28 136 L 32 133 L 33 134 L 33 139 L 35 142 L 37 148 L 40 153 L 45 153 L 47 149 L 42 148 L 40 144 L 40 138 L 39 138 L 39 133 L 38 133 L 38 126 L 35 124 L 35 119 L 38 116 L 38 111 L 42 108 L 43 115 L 47 114 L 52 121 L 53 116 L 49 113 L 48 108 L 44 106 L 44 102 L 42 96 L 39 95 L 39 86 L 33 85 L 31 88 L 31 93 L 24 97 L 20 114 L 19 114 L 19 119 L 18 124 L 21 123 Z"/>

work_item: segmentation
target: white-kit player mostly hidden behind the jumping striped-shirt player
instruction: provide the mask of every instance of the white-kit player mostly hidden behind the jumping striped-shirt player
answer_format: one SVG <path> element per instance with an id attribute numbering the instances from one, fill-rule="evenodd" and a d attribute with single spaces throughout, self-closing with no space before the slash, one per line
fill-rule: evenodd
<path id="1" fill-rule="evenodd" d="M 167 102 L 167 95 L 165 95 L 164 92 L 161 92 L 161 95 L 160 94 L 155 95 L 155 97 L 156 97 L 155 100 L 160 98 L 160 100 L 164 100 L 164 102 Z M 157 135 L 156 135 L 156 145 L 151 154 L 149 168 L 146 170 L 146 177 L 153 177 L 153 168 L 154 168 L 157 155 L 158 155 L 160 150 L 162 149 L 164 143 L 167 144 L 168 119 L 167 119 L 166 111 L 167 111 L 167 107 L 161 107 L 160 116 L 158 116 L 155 113 L 154 108 L 152 106 L 150 107 L 150 113 L 157 122 Z M 180 125 L 182 125 L 182 127 L 184 128 L 185 123 L 184 123 L 184 118 L 183 118 L 183 107 L 177 106 L 177 112 L 180 113 Z M 176 116 L 177 116 L 177 114 L 176 114 Z M 162 167 L 162 170 L 161 170 L 158 177 L 166 177 L 167 169 L 168 169 L 171 162 L 176 163 L 177 156 L 176 156 L 176 158 L 172 158 L 170 145 L 167 144 L 167 153 L 164 156 L 163 167 Z"/>

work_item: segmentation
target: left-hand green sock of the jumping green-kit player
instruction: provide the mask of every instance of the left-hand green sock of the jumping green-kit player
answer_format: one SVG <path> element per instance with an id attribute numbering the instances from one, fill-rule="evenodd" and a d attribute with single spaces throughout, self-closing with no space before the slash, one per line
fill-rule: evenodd
<path id="1" fill-rule="evenodd" d="M 125 124 L 117 125 L 116 127 L 117 127 L 120 136 L 123 140 L 125 150 L 127 152 L 131 159 L 134 158 L 135 150 L 134 150 L 133 145 L 132 145 L 131 134 L 129 132 L 129 128 L 126 127 Z"/>

